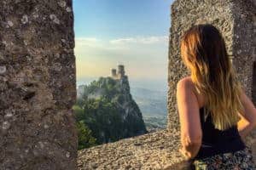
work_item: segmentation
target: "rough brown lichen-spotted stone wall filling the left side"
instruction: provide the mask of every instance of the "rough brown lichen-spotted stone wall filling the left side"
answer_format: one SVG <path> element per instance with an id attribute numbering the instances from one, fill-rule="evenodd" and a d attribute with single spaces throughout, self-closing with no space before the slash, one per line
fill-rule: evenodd
<path id="1" fill-rule="evenodd" d="M 0 1 L 0 169 L 75 169 L 72 0 Z"/>

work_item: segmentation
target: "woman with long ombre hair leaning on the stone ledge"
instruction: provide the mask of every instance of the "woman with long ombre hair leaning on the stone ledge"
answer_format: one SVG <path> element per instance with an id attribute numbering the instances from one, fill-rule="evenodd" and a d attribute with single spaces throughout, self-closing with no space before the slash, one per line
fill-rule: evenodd
<path id="1" fill-rule="evenodd" d="M 242 140 L 256 127 L 256 109 L 236 78 L 218 29 L 189 28 L 181 56 L 190 76 L 177 82 L 179 151 L 196 170 L 256 169 Z"/>

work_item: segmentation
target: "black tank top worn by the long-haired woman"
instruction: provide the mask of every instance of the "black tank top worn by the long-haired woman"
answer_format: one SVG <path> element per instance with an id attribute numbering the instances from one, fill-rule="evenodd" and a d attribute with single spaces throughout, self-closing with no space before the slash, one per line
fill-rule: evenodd
<path id="1" fill-rule="evenodd" d="M 246 147 L 238 133 L 237 125 L 224 131 L 220 131 L 212 124 L 211 114 L 208 114 L 205 121 L 204 109 L 205 107 L 201 107 L 200 109 L 201 128 L 203 133 L 202 144 L 194 159 L 201 159 L 227 152 L 235 152 L 236 150 L 243 150 Z"/>

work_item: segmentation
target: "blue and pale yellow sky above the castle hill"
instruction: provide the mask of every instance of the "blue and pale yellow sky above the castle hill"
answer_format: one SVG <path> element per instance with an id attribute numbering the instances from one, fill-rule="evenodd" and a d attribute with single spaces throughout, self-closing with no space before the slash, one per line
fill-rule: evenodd
<path id="1" fill-rule="evenodd" d="M 73 0 L 78 84 L 125 65 L 130 82 L 167 81 L 173 0 Z"/>

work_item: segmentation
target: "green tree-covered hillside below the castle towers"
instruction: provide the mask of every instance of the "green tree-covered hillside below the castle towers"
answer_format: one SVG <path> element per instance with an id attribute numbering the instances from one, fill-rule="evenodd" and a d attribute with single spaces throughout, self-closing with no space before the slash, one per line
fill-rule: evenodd
<path id="1" fill-rule="evenodd" d="M 73 106 L 79 129 L 79 149 L 145 133 L 142 117 L 128 115 L 124 118 L 127 113 L 120 105 L 125 99 L 120 84 L 110 77 L 101 77 L 85 86 L 82 98 Z M 134 101 L 130 103 L 135 105 L 134 111 L 139 111 Z"/>

